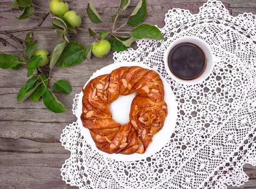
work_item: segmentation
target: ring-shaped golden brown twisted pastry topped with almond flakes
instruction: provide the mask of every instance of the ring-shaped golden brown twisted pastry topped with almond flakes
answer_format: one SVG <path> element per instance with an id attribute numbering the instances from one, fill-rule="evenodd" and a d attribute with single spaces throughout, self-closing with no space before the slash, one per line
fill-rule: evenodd
<path id="1" fill-rule="evenodd" d="M 153 70 L 139 66 L 120 67 L 96 77 L 82 89 L 81 120 L 97 146 L 109 154 L 143 154 L 167 116 L 163 82 Z M 109 105 L 119 95 L 136 92 L 131 103 L 130 122 L 112 119 Z"/>

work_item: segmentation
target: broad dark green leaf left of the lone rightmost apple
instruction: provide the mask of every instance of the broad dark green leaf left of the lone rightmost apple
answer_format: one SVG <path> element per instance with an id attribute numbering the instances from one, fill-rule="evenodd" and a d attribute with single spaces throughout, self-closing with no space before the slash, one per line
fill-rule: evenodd
<path id="1" fill-rule="evenodd" d="M 76 41 L 70 41 L 64 48 L 61 56 L 59 57 L 56 65 L 58 67 L 73 66 L 84 60 L 84 47 Z"/>

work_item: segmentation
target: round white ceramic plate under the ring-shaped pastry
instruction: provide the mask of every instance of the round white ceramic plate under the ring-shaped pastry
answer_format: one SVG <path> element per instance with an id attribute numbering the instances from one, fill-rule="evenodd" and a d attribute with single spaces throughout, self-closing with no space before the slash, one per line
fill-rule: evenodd
<path id="1" fill-rule="evenodd" d="M 109 74 L 114 69 L 117 69 L 122 66 L 140 66 L 142 68 L 152 69 L 144 64 L 135 63 L 135 62 L 113 63 L 93 73 L 93 76 L 90 77 L 87 83 L 89 83 L 89 81 L 94 79 L 95 77 L 98 77 L 103 74 Z M 172 133 L 176 125 L 176 120 L 177 120 L 177 104 L 176 104 L 175 96 L 172 92 L 172 88 L 169 86 L 169 84 L 166 82 L 166 80 L 162 76 L 160 76 L 160 78 L 163 81 L 163 86 L 165 90 L 164 100 L 167 103 L 168 115 L 164 122 L 163 129 L 161 129 L 160 132 L 154 135 L 152 142 L 149 144 L 148 149 L 144 154 L 137 154 L 137 153 L 134 153 L 131 155 L 108 154 L 97 149 L 90 135 L 89 130 L 83 127 L 82 121 L 80 119 L 80 116 L 82 113 L 82 97 L 83 97 L 83 93 L 81 92 L 78 98 L 76 117 L 78 118 L 78 124 L 81 129 L 81 135 L 84 136 L 84 139 L 87 141 L 87 143 L 93 149 L 99 152 L 99 154 L 103 155 L 106 158 L 111 158 L 117 161 L 141 160 L 160 151 L 160 149 L 162 149 L 162 147 L 166 145 L 166 143 L 172 136 Z M 87 85 L 87 83 L 85 83 L 84 87 Z M 119 98 L 111 104 L 110 108 L 111 108 L 112 116 L 113 116 L 113 119 L 116 120 L 116 122 L 119 122 L 121 124 L 128 123 L 131 101 L 133 100 L 134 97 L 135 97 L 135 93 L 130 94 L 128 96 L 120 95 Z"/>

